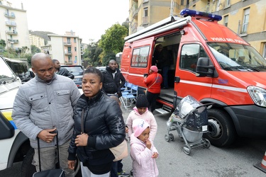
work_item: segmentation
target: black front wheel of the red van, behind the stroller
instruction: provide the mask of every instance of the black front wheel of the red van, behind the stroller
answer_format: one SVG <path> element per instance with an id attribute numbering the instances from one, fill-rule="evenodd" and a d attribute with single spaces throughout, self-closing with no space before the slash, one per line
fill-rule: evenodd
<path id="1" fill-rule="evenodd" d="M 209 132 L 203 135 L 215 147 L 226 147 L 232 144 L 237 135 L 231 117 L 223 110 L 208 110 Z"/>

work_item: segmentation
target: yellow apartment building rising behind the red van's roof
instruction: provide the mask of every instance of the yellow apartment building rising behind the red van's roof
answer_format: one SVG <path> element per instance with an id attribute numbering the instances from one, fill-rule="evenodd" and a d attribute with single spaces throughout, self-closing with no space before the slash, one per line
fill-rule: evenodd
<path id="1" fill-rule="evenodd" d="M 266 58 L 265 0 L 129 0 L 129 34 L 168 16 L 179 16 L 183 8 L 223 16 L 226 25 Z"/>

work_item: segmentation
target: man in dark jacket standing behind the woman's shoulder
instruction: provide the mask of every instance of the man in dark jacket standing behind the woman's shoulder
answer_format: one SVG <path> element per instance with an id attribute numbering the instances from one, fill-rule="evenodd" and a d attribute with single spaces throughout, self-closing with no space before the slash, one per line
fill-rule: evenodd
<path id="1" fill-rule="evenodd" d="M 123 87 L 126 83 L 126 79 L 117 68 L 116 61 L 111 59 L 106 67 L 106 70 L 102 73 L 104 76 L 102 91 L 104 91 L 104 93 L 108 96 L 115 95 L 121 97 L 121 87 Z"/>

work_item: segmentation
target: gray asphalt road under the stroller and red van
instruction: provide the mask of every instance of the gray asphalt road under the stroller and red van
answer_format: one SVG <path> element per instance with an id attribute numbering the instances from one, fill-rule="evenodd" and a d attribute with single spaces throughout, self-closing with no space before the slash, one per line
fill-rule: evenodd
<path id="1" fill-rule="evenodd" d="M 123 109 L 123 116 L 126 120 L 129 110 Z M 209 149 L 196 147 L 192 149 L 190 156 L 184 154 L 184 141 L 180 139 L 177 132 L 173 142 L 165 141 L 167 132 L 166 122 L 170 114 L 160 115 L 155 113 L 158 124 L 158 131 L 155 137 L 155 147 L 160 156 L 157 159 L 157 166 L 161 177 L 250 177 L 266 176 L 265 173 L 256 169 L 253 164 L 261 163 L 266 150 L 266 141 L 259 139 L 240 138 L 231 147 L 217 148 L 211 146 Z M 129 144 L 128 144 L 128 150 Z M 131 171 L 131 157 L 123 159 L 123 169 Z M 20 176 L 20 164 L 13 168 L 0 171 L 0 176 Z"/>

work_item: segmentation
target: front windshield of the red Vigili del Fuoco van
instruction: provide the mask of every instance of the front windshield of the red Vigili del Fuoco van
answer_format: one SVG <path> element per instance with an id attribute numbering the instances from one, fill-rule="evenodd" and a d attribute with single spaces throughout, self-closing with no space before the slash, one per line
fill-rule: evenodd
<path id="1" fill-rule="evenodd" d="M 207 45 L 224 70 L 266 72 L 266 59 L 253 47 L 226 42 L 208 42 Z"/>

